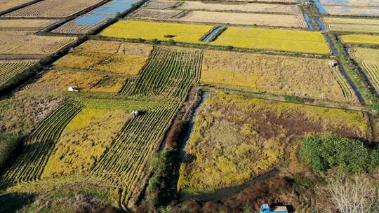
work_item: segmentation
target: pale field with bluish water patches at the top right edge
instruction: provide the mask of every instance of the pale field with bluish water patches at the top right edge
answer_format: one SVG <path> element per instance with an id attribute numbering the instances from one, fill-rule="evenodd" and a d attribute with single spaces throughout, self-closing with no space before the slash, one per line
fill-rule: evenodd
<path id="1" fill-rule="evenodd" d="M 324 6 L 330 15 L 379 16 L 379 7 L 363 6 Z"/>

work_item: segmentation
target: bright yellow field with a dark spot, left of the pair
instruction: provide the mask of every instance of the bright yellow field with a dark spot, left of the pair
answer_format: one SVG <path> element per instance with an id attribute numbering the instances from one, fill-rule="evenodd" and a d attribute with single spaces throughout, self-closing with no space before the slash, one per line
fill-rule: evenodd
<path id="1" fill-rule="evenodd" d="M 173 39 L 180 42 L 198 43 L 201 36 L 213 29 L 209 25 L 186 25 L 165 22 L 120 20 L 101 32 L 102 36 L 124 39 Z"/>

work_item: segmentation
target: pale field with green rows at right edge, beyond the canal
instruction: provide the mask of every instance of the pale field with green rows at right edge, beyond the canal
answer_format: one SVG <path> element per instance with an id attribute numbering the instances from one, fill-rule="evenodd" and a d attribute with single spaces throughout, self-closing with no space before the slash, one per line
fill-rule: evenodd
<path id="1" fill-rule="evenodd" d="M 375 90 L 379 92 L 379 50 L 371 48 L 351 48 L 350 54 L 366 73 Z"/>

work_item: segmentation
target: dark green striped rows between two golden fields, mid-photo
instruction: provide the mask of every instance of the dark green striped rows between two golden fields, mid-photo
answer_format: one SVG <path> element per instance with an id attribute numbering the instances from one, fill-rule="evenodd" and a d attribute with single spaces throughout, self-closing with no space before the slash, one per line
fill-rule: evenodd
<path id="1" fill-rule="evenodd" d="M 201 50 L 156 47 L 135 82 L 121 92 L 137 96 L 184 97 L 199 80 Z"/>

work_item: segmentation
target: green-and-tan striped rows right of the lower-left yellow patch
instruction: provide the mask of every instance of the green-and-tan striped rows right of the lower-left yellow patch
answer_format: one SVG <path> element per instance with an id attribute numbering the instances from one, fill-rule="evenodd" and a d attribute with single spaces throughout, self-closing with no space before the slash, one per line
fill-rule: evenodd
<path id="1" fill-rule="evenodd" d="M 93 168 L 94 177 L 124 188 L 122 202 L 127 203 L 133 194 L 140 193 L 138 183 L 145 177 L 147 161 L 157 151 L 176 109 L 161 108 L 133 118 Z"/>

